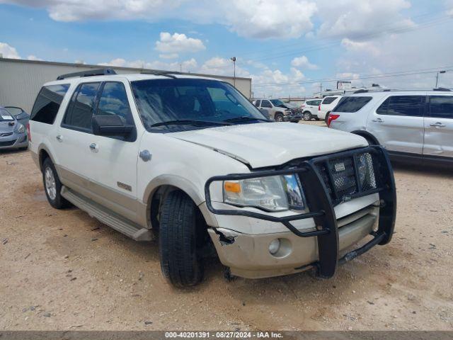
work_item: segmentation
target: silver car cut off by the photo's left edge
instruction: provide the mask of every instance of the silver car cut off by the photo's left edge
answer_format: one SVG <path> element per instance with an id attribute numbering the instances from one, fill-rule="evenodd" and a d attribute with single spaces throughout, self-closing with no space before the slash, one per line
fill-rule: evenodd
<path id="1" fill-rule="evenodd" d="M 26 120 L 28 122 L 28 118 Z M 6 108 L 0 106 L 0 149 L 27 148 L 28 137 L 25 125 Z"/>

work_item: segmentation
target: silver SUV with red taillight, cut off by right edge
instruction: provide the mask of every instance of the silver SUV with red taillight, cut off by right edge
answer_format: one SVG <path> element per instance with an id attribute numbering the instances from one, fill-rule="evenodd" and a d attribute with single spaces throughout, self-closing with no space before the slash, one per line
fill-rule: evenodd
<path id="1" fill-rule="evenodd" d="M 383 145 L 394 159 L 453 162 L 453 92 L 449 89 L 365 91 L 344 97 L 330 128 Z"/>

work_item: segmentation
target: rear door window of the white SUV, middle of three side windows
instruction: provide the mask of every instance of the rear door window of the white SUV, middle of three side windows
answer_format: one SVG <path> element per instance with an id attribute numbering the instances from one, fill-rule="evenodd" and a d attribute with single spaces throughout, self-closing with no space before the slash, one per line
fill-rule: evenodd
<path id="1" fill-rule="evenodd" d="M 91 118 L 99 84 L 101 83 L 84 83 L 77 87 L 64 115 L 62 125 L 65 128 L 91 132 Z"/>

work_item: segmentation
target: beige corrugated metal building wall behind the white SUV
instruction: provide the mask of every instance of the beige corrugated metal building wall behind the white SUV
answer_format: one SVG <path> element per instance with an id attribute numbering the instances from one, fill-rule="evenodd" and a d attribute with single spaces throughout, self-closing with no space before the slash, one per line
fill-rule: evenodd
<path id="1" fill-rule="evenodd" d="M 42 84 L 57 79 L 60 74 L 101 68 L 97 65 L 35 62 L 0 58 L 0 106 L 18 106 L 30 113 Z M 120 74 L 137 73 L 142 69 L 112 67 Z M 218 77 L 233 84 L 233 77 Z M 251 98 L 251 79 L 236 78 L 236 89 Z"/>

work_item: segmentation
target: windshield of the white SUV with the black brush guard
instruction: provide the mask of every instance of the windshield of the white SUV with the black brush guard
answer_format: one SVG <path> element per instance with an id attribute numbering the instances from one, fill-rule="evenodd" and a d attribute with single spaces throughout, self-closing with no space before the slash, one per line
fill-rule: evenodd
<path id="1" fill-rule="evenodd" d="M 266 120 L 250 101 L 224 81 L 149 79 L 132 81 L 147 130 L 187 130 Z M 194 124 L 197 123 L 197 124 Z"/>

